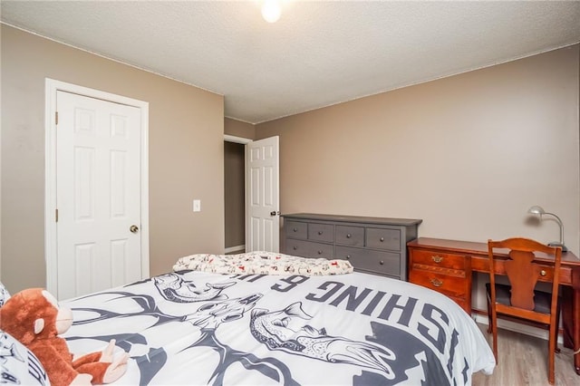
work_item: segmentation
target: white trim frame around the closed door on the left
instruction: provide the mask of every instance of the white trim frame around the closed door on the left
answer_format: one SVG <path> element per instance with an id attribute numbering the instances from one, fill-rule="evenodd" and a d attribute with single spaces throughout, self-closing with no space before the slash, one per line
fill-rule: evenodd
<path id="1" fill-rule="evenodd" d="M 89 98 L 112 101 L 140 109 L 140 236 L 141 277 L 150 276 L 149 256 L 149 102 L 102 92 L 73 83 L 44 80 L 44 260 L 46 289 L 56 294 L 57 234 L 56 234 L 56 93 L 72 92 Z"/>

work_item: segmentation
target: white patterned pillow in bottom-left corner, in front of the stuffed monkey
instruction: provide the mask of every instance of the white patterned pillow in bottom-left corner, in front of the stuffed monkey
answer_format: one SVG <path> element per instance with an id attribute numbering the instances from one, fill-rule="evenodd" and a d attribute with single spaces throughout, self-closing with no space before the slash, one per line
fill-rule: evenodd
<path id="1" fill-rule="evenodd" d="M 33 352 L 0 330 L 0 383 L 50 385 L 43 365 Z"/>

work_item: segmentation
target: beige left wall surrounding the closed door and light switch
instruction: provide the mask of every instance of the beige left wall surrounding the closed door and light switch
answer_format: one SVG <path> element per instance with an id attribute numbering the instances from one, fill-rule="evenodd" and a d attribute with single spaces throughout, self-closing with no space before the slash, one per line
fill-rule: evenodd
<path id="1" fill-rule="evenodd" d="M 46 77 L 150 103 L 151 275 L 223 252 L 223 97 L 2 25 L 1 280 L 11 292 L 46 284 Z"/>

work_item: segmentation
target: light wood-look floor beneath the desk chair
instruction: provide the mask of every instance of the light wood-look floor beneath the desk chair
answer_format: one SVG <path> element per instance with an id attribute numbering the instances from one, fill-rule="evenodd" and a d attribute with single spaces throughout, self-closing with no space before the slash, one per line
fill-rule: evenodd
<path id="1" fill-rule="evenodd" d="M 488 326 L 478 323 L 481 332 L 492 338 Z M 572 350 L 560 345 L 556 353 L 556 385 L 578 386 L 580 375 L 574 371 Z M 493 375 L 473 374 L 474 386 L 543 386 L 547 382 L 547 341 L 522 333 L 498 330 L 498 366 Z"/>

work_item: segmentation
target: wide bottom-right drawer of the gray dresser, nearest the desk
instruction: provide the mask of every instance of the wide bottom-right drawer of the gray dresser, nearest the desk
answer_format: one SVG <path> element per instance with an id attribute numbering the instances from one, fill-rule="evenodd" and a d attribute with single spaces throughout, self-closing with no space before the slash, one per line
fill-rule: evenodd
<path id="1" fill-rule="evenodd" d="M 350 261 L 357 270 L 381 275 L 401 276 L 400 254 L 336 246 L 336 258 Z"/>

